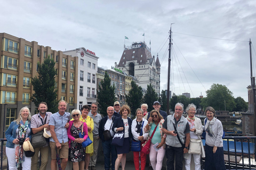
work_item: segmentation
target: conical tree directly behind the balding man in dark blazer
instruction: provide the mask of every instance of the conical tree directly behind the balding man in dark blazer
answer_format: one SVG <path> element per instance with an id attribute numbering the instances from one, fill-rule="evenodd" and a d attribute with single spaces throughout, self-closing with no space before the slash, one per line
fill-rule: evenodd
<path id="1" fill-rule="evenodd" d="M 99 84 L 99 90 L 97 90 L 97 103 L 99 105 L 100 114 L 106 116 L 108 106 L 113 106 L 116 101 L 115 98 L 115 86 L 110 86 L 111 79 L 107 72 L 105 72 L 104 79 Z"/>

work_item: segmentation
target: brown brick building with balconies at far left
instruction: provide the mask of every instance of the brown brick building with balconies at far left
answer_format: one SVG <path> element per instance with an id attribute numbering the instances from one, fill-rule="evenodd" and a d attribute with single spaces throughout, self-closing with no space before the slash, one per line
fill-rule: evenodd
<path id="1" fill-rule="evenodd" d="M 17 119 L 20 109 L 30 108 L 31 115 L 37 106 L 30 101 L 34 93 L 31 78 L 38 76 L 37 63 L 43 63 L 50 55 L 54 58 L 57 75 L 55 88 L 58 89 L 58 99 L 67 101 L 67 111 L 76 108 L 77 98 L 77 57 L 52 50 L 49 46 L 40 46 L 36 41 L 27 41 L 7 33 L 0 33 L 0 136 L 10 123 Z M 74 87 L 74 88 L 72 88 Z M 51 112 L 49 110 L 49 112 Z"/>

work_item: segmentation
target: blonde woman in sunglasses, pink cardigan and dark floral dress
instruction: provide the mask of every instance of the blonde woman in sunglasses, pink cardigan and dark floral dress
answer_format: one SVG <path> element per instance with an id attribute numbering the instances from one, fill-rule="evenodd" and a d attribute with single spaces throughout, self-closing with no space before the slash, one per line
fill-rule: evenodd
<path id="1" fill-rule="evenodd" d="M 81 117 L 81 112 L 74 109 L 71 112 L 71 116 L 74 121 L 69 121 L 68 127 L 68 144 L 69 144 L 69 160 L 73 162 L 74 170 L 84 169 L 84 159 L 85 159 L 85 148 L 82 147 L 82 142 L 84 142 L 87 137 L 87 125 L 85 122 L 79 120 Z M 84 138 L 79 138 L 79 133 L 84 133 Z"/>

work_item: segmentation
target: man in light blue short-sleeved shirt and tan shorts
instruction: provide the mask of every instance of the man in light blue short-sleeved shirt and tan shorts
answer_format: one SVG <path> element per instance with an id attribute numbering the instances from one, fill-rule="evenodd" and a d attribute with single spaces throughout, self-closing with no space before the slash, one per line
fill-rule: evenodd
<path id="1" fill-rule="evenodd" d="M 50 117 L 50 131 L 52 138 L 50 138 L 50 147 L 52 154 L 51 169 L 57 170 L 56 148 L 61 158 L 61 169 L 65 169 L 68 163 L 68 134 L 67 128 L 69 126 L 70 113 L 65 112 L 67 109 L 67 102 L 60 100 L 58 105 L 59 112 L 52 114 Z"/>

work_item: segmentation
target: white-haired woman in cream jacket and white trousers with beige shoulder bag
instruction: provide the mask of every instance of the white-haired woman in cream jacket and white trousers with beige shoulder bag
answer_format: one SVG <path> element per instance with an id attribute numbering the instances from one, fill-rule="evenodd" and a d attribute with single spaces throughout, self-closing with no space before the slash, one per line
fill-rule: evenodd
<path id="1" fill-rule="evenodd" d="M 203 158 L 205 157 L 204 146 L 200 137 L 200 135 L 203 133 L 202 122 L 200 118 L 197 118 L 195 116 L 196 105 L 194 105 L 193 103 L 188 105 L 188 107 L 186 108 L 186 112 L 188 114 L 187 120 L 189 124 L 189 129 L 190 129 L 190 143 L 195 140 L 201 141 L 201 154 L 188 154 L 188 153 L 184 154 L 183 156 L 185 159 L 185 169 L 190 170 L 191 156 L 193 155 L 195 170 L 199 170 L 201 169 L 201 165 L 200 165 L 201 155 Z"/>

